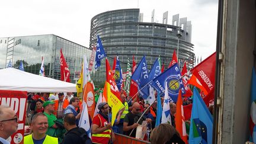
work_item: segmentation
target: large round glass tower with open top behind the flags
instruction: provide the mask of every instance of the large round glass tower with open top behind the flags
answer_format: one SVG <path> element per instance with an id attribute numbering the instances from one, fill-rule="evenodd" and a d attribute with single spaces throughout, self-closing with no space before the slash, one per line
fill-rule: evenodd
<path id="1" fill-rule="evenodd" d="M 154 11 L 151 23 L 143 22 L 143 14 L 139 9 L 119 9 L 95 15 L 91 20 L 89 49 L 97 43 L 100 36 L 107 56 L 119 56 L 124 64 L 127 59 L 135 56 L 138 63 L 146 55 L 149 69 L 155 59 L 167 68 L 172 53 L 178 52 L 178 59 L 183 65 L 187 62 L 188 69 L 194 66 L 194 45 L 191 44 L 191 21 L 187 18 L 172 16 L 172 25 L 168 24 L 168 12 L 163 14 L 163 21 L 155 23 Z M 123 68 L 126 70 L 126 68 Z"/>

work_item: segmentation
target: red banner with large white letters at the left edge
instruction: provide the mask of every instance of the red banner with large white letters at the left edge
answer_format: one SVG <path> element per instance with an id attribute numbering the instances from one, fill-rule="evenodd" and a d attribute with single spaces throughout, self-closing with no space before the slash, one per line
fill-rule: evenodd
<path id="1" fill-rule="evenodd" d="M 0 90 L 0 105 L 11 107 L 17 114 L 18 130 L 12 134 L 7 140 L 11 144 L 23 143 L 24 127 L 25 127 L 25 111 L 27 104 L 27 92 L 25 91 L 4 91 Z"/>

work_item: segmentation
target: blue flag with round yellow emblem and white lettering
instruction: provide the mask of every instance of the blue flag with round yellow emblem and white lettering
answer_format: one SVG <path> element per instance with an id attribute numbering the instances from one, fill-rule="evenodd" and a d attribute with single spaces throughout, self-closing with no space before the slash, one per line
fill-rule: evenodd
<path id="1" fill-rule="evenodd" d="M 172 65 L 160 75 L 156 76 L 156 78 L 152 81 L 152 86 L 158 91 L 164 93 L 165 82 L 167 82 L 168 85 L 169 101 L 173 100 L 176 103 L 179 90 L 181 89 L 182 94 L 185 92 L 181 79 L 180 68 L 178 68 L 177 63 Z"/>

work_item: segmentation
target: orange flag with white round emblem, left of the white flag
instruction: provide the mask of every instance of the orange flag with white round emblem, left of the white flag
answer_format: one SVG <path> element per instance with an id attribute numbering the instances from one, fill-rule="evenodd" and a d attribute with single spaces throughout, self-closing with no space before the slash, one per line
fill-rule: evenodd
<path id="1" fill-rule="evenodd" d="M 95 110 L 94 87 L 91 82 L 87 82 L 87 84 L 85 84 L 83 100 L 85 103 L 87 103 L 89 116 L 94 117 L 94 110 Z"/>

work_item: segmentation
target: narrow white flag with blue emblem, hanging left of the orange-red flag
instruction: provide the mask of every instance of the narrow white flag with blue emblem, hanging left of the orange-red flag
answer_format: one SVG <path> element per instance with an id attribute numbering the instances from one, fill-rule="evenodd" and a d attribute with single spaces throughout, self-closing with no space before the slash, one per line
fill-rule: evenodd
<path id="1" fill-rule="evenodd" d="M 164 97 L 164 105 L 163 105 L 163 110 L 162 110 L 162 122 L 161 123 L 171 124 L 171 113 L 170 113 L 170 108 L 169 108 L 169 95 L 168 95 L 167 82 L 165 83 L 165 97 Z"/>

